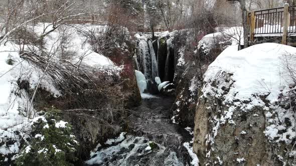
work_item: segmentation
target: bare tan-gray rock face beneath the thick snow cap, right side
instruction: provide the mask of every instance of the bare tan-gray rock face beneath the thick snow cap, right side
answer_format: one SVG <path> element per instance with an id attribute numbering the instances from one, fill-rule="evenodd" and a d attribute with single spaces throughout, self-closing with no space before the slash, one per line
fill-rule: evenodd
<path id="1" fill-rule="evenodd" d="M 295 132 L 292 128 L 291 132 L 287 131 L 292 116 L 286 117 L 287 110 L 271 106 L 264 96 L 256 97 L 265 103 L 265 107 L 255 106 L 249 110 L 240 105 L 250 103 L 251 99 L 225 102 L 224 96 L 232 88 L 231 76 L 223 72 L 208 84 L 222 95 L 203 94 L 196 107 L 193 151 L 199 157 L 200 165 L 294 165 L 291 135 Z M 223 87 L 221 82 L 224 82 Z M 229 108 L 233 110 L 230 112 Z M 286 130 L 273 128 L 272 134 L 277 136 L 271 139 L 268 134 L 274 126 Z"/>

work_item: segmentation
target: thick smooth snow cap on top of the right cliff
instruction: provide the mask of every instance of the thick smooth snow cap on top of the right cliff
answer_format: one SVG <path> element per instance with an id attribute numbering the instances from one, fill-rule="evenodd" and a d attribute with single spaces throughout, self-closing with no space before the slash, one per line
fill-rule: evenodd
<path id="1" fill-rule="evenodd" d="M 219 77 L 223 71 L 233 73 L 231 78 L 235 82 L 225 96 L 226 101 L 248 100 L 252 94 L 268 94 L 267 99 L 271 103 L 277 101 L 282 85 L 290 83 L 289 80 L 283 78 L 281 73 L 284 70 L 281 58 L 287 52 L 296 53 L 296 48 L 276 43 L 257 44 L 240 51 L 237 51 L 236 48 L 235 45 L 226 48 L 209 65 L 204 80 L 209 83 Z M 287 82 L 283 82 L 281 79 Z M 203 88 L 204 94 L 213 94 L 213 91 L 208 87 L 206 85 Z M 213 95 L 221 95 L 219 92 Z M 262 102 L 253 98 L 248 109 L 254 105 L 262 104 Z"/>

